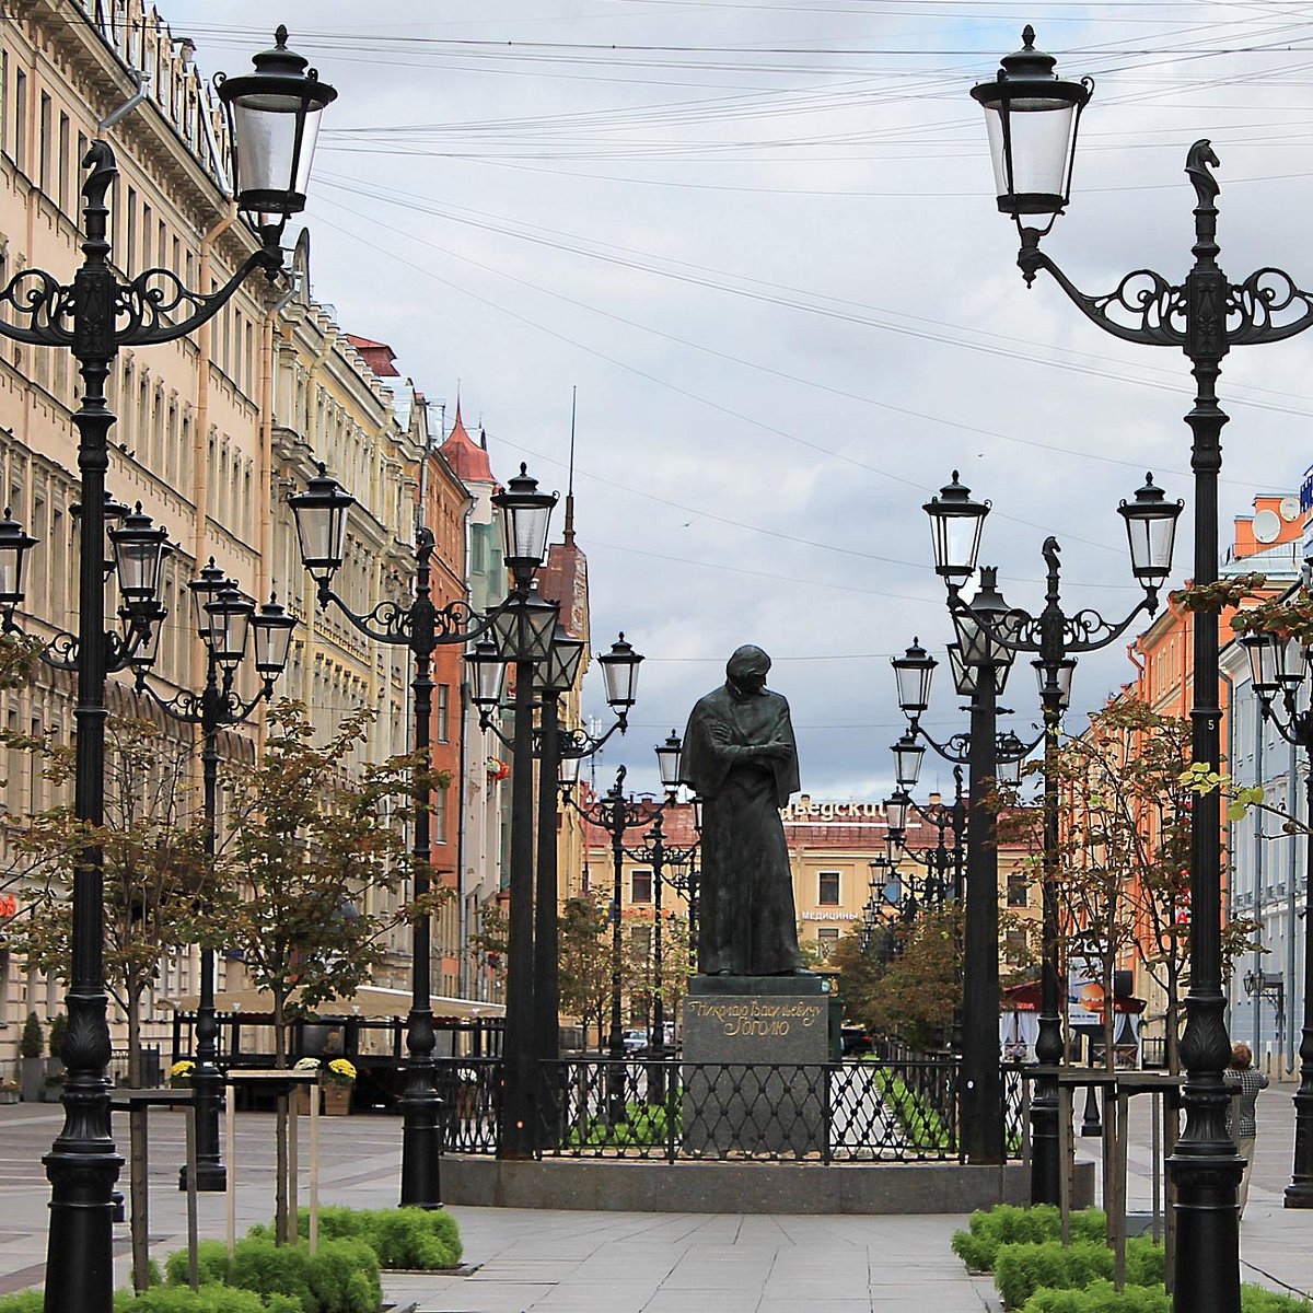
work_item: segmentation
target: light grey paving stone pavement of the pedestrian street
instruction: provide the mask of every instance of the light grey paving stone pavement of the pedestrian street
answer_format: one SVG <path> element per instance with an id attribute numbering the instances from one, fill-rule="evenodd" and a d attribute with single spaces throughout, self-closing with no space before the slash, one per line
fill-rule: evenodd
<path id="1" fill-rule="evenodd" d="M 1281 1208 L 1293 1142 L 1292 1087 L 1259 1103 L 1254 1186 L 1241 1228 L 1243 1278 L 1275 1289 L 1313 1291 L 1313 1213 Z M 39 1284 L 49 1186 L 39 1158 L 59 1125 L 56 1108 L 0 1107 L 0 1293 Z M 272 1213 L 273 1119 L 239 1125 L 238 1226 Z M 320 1197 L 393 1207 L 400 1123 L 324 1119 Z M 1148 1211 L 1152 1154 L 1148 1104 L 1132 1104 L 1129 1207 Z M 116 1124 L 126 1141 L 126 1121 Z M 1099 1144 L 1082 1140 L 1096 1155 Z M 151 1243 L 163 1257 L 184 1242 L 177 1191 L 183 1119 L 151 1123 Z M 121 1145 L 121 1148 L 126 1148 Z M 302 1182 L 306 1179 L 302 1162 Z M 872 1169 L 878 1170 L 878 1169 Z M 126 1175 L 126 1174 L 125 1174 Z M 303 1188 L 303 1187 L 302 1187 Z M 302 1196 L 302 1201 L 305 1201 Z M 591 1213 L 453 1208 L 469 1275 L 389 1274 L 399 1306 L 419 1313 L 928 1313 L 997 1309 L 993 1283 L 972 1278 L 949 1251 L 957 1216 L 775 1217 Z M 201 1234 L 222 1238 L 223 1197 L 201 1196 Z M 119 1280 L 127 1230 L 116 1228 Z M 705 1302 L 704 1302 L 705 1299 Z"/>

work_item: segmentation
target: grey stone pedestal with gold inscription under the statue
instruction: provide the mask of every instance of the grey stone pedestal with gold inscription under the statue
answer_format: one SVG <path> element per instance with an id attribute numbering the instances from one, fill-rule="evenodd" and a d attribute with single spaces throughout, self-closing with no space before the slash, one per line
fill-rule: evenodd
<path id="1" fill-rule="evenodd" d="M 829 1011 L 818 976 L 695 977 L 684 999 L 684 1150 L 822 1153 Z"/>

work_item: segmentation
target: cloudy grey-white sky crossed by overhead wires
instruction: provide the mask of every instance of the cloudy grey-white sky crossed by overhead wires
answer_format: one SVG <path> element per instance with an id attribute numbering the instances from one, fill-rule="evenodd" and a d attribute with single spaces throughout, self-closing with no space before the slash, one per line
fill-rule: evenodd
<path id="1" fill-rule="evenodd" d="M 1136 604 L 1116 507 L 1153 470 L 1191 496 L 1179 352 L 1123 344 L 1041 276 L 1027 291 L 968 91 L 1032 22 L 1095 79 L 1073 202 L 1045 249 L 1091 293 L 1190 264 L 1191 142 L 1221 159 L 1221 263 L 1313 286 L 1313 14 L 1204 0 L 161 0 L 205 74 L 284 21 L 340 98 L 311 227 L 315 295 L 457 394 L 494 469 L 565 491 L 595 647 L 647 655 L 628 762 L 683 726 L 744 642 L 775 658 L 804 788 L 874 798 L 901 731 L 889 656 L 941 654 L 920 506 L 953 469 L 989 498 L 982 561 L 1043 603 Z M 1222 541 L 1313 458 L 1313 336 L 1226 361 Z M 1188 523 L 1178 575 L 1190 561 Z M 1082 660 L 1074 705 L 1132 668 Z M 592 687 L 592 681 L 597 687 Z M 962 727 L 940 671 L 928 723 Z M 1031 671 L 1004 699 L 1036 718 Z M 600 675 L 590 708 L 604 712 Z M 947 772 L 937 772 L 940 780 Z M 935 768 L 927 763 L 926 783 Z"/>

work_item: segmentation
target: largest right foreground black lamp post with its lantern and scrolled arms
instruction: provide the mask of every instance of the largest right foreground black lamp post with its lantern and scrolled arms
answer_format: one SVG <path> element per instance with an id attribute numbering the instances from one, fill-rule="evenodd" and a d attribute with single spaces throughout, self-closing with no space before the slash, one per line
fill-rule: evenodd
<path id="1" fill-rule="evenodd" d="M 1217 579 L 1217 478 L 1226 414 L 1217 404 L 1217 378 L 1232 347 L 1260 345 L 1313 327 L 1313 299 L 1280 269 L 1262 268 L 1230 282 L 1217 264 L 1217 193 L 1212 144 L 1197 140 L 1186 158 L 1195 188 L 1195 263 L 1173 285 L 1149 269 L 1127 274 L 1099 297 L 1079 291 L 1040 251 L 1040 239 L 1066 207 L 1081 112 L 1092 83 L 1054 74 L 1057 60 L 1035 49 L 1032 28 L 1023 49 L 1004 56 L 991 81 L 972 89 L 985 110 L 998 206 L 1014 218 L 1022 240 L 1018 265 L 1032 285 L 1045 269 L 1091 323 L 1124 341 L 1174 347 L 1190 360 L 1195 403 L 1190 425 L 1195 471 L 1196 587 Z M 1036 225 L 1043 223 L 1044 227 Z M 1221 706 L 1218 637 L 1213 622 L 1194 626 L 1191 756 L 1218 769 Z M 1236 1190 L 1241 1159 L 1226 1134 L 1222 1070 L 1230 1044 L 1221 987 L 1221 801 L 1201 794 L 1191 810 L 1190 993 L 1182 1057 L 1186 1127 L 1169 1159 L 1176 1184 L 1178 1250 L 1173 1308 L 1178 1313 L 1236 1313 L 1239 1308 L 1239 1230 Z"/>

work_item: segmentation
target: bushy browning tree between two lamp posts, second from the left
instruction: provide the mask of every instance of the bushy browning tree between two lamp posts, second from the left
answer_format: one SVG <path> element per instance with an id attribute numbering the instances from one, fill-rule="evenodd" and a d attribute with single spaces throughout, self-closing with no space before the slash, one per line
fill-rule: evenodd
<path id="1" fill-rule="evenodd" d="M 222 897 L 206 937 L 240 949 L 252 983 L 273 998 L 274 1058 L 286 1065 L 290 1004 L 310 1010 L 351 995 L 383 960 L 385 936 L 432 915 L 448 897 L 387 903 L 416 867 L 403 825 L 414 819 L 416 759 L 394 756 L 348 773 L 370 712 L 347 717 L 323 747 L 299 702 L 269 713 L 264 762 L 223 773 L 228 834 Z M 448 783 L 436 773 L 431 784 Z"/>

